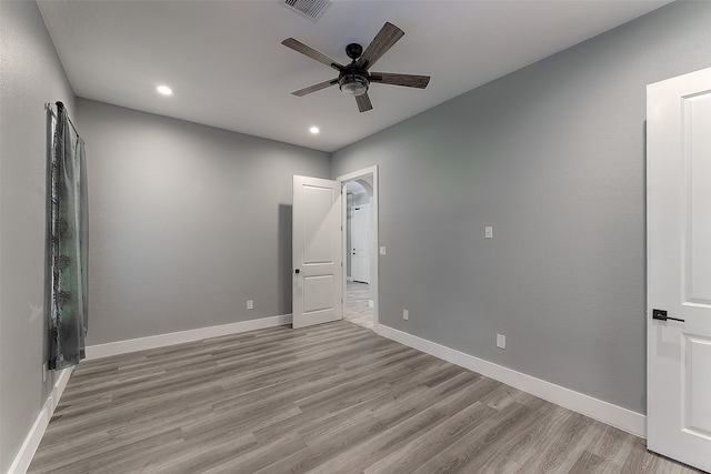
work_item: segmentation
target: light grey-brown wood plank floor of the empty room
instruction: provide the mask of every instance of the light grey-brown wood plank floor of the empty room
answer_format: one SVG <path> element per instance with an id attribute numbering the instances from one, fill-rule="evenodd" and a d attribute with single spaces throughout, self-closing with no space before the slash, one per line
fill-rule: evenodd
<path id="1" fill-rule="evenodd" d="M 692 473 L 348 322 L 74 370 L 30 473 Z"/>

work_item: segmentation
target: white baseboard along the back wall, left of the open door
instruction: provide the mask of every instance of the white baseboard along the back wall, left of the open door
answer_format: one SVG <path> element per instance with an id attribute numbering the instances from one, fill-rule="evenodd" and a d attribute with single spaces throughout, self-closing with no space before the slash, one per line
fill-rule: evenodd
<path id="1" fill-rule="evenodd" d="M 168 334 L 151 335 L 148 337 L 129 339 L 126 341 L 109 342 L 107 344 L 90 345 L 87 347 L 87 359 L 108 357 L 110 355 L 126 354 L 147 349 L 163 347 L 167 345 L 182 344 L 184 342 L 200 341 L 209 337 L 237 334 L 256 331 L 266 327 L 276 327 L 291 324 L 291 314 L 280 316 L 260 317 L 258 320 L 240 321 L 219 326 L 198 327 L 189 331 L 180 331 Z"/>

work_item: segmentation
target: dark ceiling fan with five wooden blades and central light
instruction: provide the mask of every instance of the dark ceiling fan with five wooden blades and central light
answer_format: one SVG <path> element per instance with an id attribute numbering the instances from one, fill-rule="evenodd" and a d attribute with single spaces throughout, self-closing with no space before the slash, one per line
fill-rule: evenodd
<path id="1" fill-rule="evenodd" d="M 358 43 L 350 43 L 346 47 L 346 54 L 351 59 L 351 63 L 343 65 L 320 53 L 311 47 L 303 44 L 293 38 L 287 38 L 281 43 L 302 54 L 308 56 L 328 67 L 339 71 L 338 78 L 309 85 L 291 92 L 293 95 L 302 97 L 311 92 L 320 91 L 330 85 L 338 84 L 341 92 L 356 97 L 358 110 L 367 112 L 373 108 L 368 97 L 368 88 L 371 82 L 381 84 L 404 85 L 408 88 L 424 89 L 430 82 L 429 75 L 393 74 L 390 72 L 369 72 L 369 69 L 378 61 L 402 36 L 404 31 L 390 22 L 382 26 L 375 38 L 363 51 L 363 47 Z"/>

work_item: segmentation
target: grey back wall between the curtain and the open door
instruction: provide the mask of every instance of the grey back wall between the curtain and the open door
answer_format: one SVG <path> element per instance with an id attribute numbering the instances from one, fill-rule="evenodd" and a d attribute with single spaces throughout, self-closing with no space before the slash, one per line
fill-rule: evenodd
<path id="1" fill-rule="evenodd" d="M 328 153 L 84 99 L 78 117 L 88 345 L 291 313 L 291 177 L 328 178 Z"/>

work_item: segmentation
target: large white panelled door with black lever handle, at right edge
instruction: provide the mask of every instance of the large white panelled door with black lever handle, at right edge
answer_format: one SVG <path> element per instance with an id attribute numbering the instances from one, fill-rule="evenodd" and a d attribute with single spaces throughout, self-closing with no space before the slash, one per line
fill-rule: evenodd
<path id="1" fill-rule="evenodd" d="M 647 88 L 647 446 L 711 471 L 711 69 Z"/>

